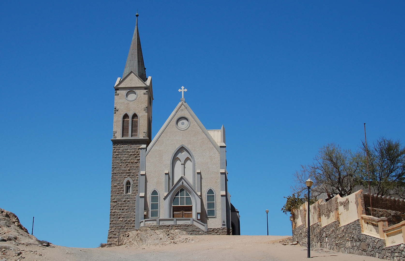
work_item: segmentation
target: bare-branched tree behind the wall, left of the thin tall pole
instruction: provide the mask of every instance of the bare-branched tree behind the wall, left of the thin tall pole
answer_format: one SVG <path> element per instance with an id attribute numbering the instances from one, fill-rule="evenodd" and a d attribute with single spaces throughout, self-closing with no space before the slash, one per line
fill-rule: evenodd
<path id="1" fill-rule="evenodd" d="M 322 193 L 331 199 L 335 195 L 344 197 L 353 191 L 358 172 L 358 158 L 352 151 L 343 150 L 338 144 L 330 143 L 323 146 L 307 166 L 301 165 L 301 170 L 295 173 L 295 186 L 292 190 L 301 193 L 307 187 L 305 180 L 311 178 L 314 183 L 312 193 L 318 197 Z"/>

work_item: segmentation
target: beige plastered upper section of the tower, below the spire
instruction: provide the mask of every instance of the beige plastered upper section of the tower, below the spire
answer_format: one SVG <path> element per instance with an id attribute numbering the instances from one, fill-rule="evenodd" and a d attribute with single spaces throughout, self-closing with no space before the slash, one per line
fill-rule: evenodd
<path id="1" fill-rule="evenodd" d="M 143 83 L 144 86 L 142 86 L 142 83 L 140 81 L 141 80 L 139 80 L 136 76 L 131 74 L 130 76 L 128 76 L 127 79 L 124 80 L 124 82 L 120 82 L 118 85 L 118 95 L 114 95 L 114 106 L 118 109 L 118 111 L 114 113 L 113 123 L 113 131 L 117 132 L 117 134 L 115 134 L 117 138 L 122 138 L 122 116 L 125 113 L 128 113 L 128 116 L 130 117 L 130 124 L 132 114 L 136 112 L 136 114 L 138 115 L 139 138 L 143 138 L 143 131 L 147 131 L 148 117 L 151 116 L 152 111 L 151 106 L 149 106 L 151 84 L 150 86 L 146 86 L 145 83 Z M 145 89 L 148 90 L 147 95 L 143 94 L 146 92 Z M 128 90 L 134 90 L 138 94 L 137 98 L 132 102 L 126 100 L 125 98 L 125 93 Z M 148 106 L 147 112 L 143 110 L 145 106 Z M 131 136 L 131 134 L 129 136 Z"/>

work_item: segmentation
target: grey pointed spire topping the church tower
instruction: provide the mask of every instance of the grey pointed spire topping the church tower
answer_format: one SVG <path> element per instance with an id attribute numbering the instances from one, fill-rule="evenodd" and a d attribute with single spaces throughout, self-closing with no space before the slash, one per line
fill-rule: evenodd
<path id="1" fill-rule="evenodd" d="M 136 24 L 134 36 L 132 36 L 132 42 L 128 53 L 127 62 L 125 64 L 124 74 L 122 78 L 127 76 L 131 71 L 139 76 L 143 81 L 146 81 L 145 64 L 143 64 L 141 40 L 139 39 L 138 32 L 138 11 L 136 11 Z"/>

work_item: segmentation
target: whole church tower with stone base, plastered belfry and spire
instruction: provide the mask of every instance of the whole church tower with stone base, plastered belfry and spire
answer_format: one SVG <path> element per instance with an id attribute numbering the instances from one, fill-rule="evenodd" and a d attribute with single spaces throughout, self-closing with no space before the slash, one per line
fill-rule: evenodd
<path id="1" fill-rule="evenodd" d="M 150 76 L 146 78 L 138 14 L 124 74 L 122 79 L 117 79 L 114 89 L 110 228 L 107 237 L 107 243 L 113 245 L 117 244 L 118 231 L 135 229 L 135 206 L 143 202 L 145 193 L 138 191 L 138 179 L 145 178 L 145 170 L 140 169 L 140 159 L 145 159 L 145 156 L 140 155 L 146 152 L 152 133 L 152 79 Z"/>

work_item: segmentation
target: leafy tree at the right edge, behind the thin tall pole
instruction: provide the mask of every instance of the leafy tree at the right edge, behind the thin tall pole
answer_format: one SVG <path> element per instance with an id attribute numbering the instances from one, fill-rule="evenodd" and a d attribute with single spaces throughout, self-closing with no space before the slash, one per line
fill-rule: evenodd
<path id="1" fill-rule="evenodd" d="M 405 196 L 405 148 L 399 140 L 380 137 L 369 146 L 370 185 L 378 195 Z M 362 142 L 360 183 L 368 187 L 366 147 Z"/>

